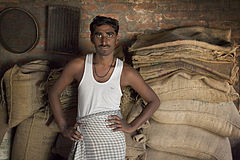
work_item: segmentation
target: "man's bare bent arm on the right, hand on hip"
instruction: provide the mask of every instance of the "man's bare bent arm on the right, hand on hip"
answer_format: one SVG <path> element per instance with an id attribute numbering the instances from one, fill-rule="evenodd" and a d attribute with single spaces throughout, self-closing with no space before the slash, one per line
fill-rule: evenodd
<path id="1" fill-rule="evenodd" d="M 121 86 L 131 86 L 146 102 L 147 105 L 130 124 L 124 124 L 124 122 L 117 116 L 112 116 L 115 119 L 113 122 L 115 125 L 109 127 L 117 127 L 113 131 L 122 130 L 127 133 L 134 132 L 138 129 L 145 121 L 147 121 L 152 114 L 157 110 L 160 105 L 160 100 L 155 92 L 145 83 L 141 75 L 132 67 L 125 64 L 123 73 L 121 76 Z"/>

